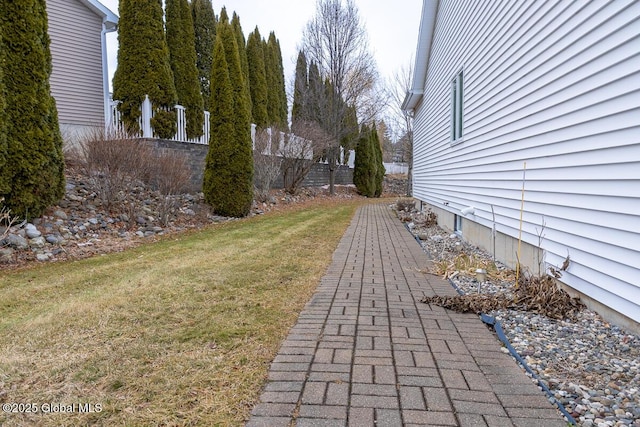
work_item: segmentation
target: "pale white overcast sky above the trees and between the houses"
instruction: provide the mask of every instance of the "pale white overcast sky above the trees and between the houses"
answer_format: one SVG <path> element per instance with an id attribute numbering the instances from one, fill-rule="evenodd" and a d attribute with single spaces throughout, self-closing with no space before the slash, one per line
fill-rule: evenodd
<path id="1" fill-rule="evenodd" d="M 118 13 L 118 0 L 100 0 Z M 266 38 L 274 31 L 280 41 L 282 62 L 287 84 L 293 79 L 298 45 L 302 31 L 315 13 L 316 0 L 213 0 L 216 15 L 222 6 L 229 16 L 235 11 L 245 35 L 256 25 Z M 393 74 L 409 64 L 415 57 L 422 0 L 355 0 L 360 17 L 369 34 L 369 47 L 378 63 L 381 77 L 391 79 Z M 109 72 L 116 68 L 118 39 L 116 33 L 107 35 Z"/>

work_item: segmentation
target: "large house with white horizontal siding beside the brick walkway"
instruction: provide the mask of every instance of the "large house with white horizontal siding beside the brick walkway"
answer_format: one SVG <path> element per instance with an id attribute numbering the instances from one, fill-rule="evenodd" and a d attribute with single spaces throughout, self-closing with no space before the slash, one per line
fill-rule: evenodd
<path id="1" fill-rule="evenodd" d="M 424 0 L 403 109 L 440 225 L 640 330 L 640 2 Z"/>

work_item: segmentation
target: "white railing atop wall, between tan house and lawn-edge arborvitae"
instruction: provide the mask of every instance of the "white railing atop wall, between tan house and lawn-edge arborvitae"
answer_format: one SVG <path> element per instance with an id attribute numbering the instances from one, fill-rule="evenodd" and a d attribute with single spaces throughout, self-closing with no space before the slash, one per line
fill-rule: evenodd
<path id="1" fill-rule="evenodd" d="M 187 138 L 187 119 L 186 109 L 182 105 L 174 106 L 176 112 L 176 129 L 177 132 L 171 138 L 172 141 L 190 142 L 192 144 L 209 144 L 209 112 L 204 112 L 204 124 L 202 126 L 202 136 L 199 138 Z M 140 106 L 140 118 L 138 119 L 138 125 L 140 126 L 140 132 L 138 136 L 141 138 L 154 138 L 156 137 L 153 127 L 151 126 L 151 119 L 153 118 L 153 108 L 149 97 L 145 95 L 144 101 Z M 118 131 L 124 131 L 124 124 L 120 117 L 120 111 L 118 111 L 118 101 L 111 101 L 111 117 L 109 120 L 110 127 Z"/>

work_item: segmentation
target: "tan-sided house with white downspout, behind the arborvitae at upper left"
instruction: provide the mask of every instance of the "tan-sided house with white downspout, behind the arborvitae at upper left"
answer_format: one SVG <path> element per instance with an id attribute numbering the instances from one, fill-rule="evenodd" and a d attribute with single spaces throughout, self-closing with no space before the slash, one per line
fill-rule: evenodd
<path id="1" fill-rule="evenodd" d="M 109 106 L 106 33 L 118 17 L 98 0 L 47 0 L 51 39 L 51 93 L 60 129 L 73 141 L 104 128 Z"/>

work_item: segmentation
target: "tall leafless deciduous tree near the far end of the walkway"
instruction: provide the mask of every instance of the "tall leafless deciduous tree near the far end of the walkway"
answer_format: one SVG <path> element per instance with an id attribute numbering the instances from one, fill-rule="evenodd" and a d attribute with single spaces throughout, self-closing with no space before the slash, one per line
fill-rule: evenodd
<path id="1" fill-rule="evenodd" d="M 362 122 L 383 107 L 378 102 L 376 64 L 354 1 L 317 0 L 316 14 L 303 32 L 302 50 L 328 83 L 323 91 L 325 102 L 314 119 L 330 138 L 326 154 L 333 194 L 340 142 L 351 132 L 344 122 L 347 109 L 355 107 Z"/>

